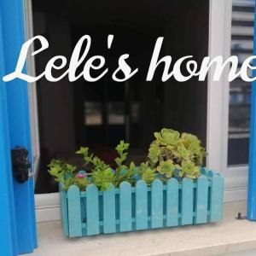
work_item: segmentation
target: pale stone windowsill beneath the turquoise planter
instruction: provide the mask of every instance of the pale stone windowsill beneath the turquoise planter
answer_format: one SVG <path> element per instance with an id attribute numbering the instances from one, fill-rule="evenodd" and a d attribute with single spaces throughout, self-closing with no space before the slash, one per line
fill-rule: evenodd
<path id="1" fill-rule="evenodd" d="M 224 220 L 217 224 L 81 238 L 65 238 L 60 221 L 39 223 L 39 247 L 27 255 L 201 256 L 254 249 L 256 255 L 256 222 L 236 220 L 237 212 L 245 214 L 245 201 L 226 203 Z"/>

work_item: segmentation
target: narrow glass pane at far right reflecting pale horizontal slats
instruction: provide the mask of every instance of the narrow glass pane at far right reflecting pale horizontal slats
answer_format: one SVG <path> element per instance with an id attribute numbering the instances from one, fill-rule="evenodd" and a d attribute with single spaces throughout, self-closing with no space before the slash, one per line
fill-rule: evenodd
<path id="1" fill-rule="evenodd" d="M 253 55 L 254 0 L 233 0 L 231 55 L 239 65 Z M 248 73 L 249 76 L 252 73 Z M 251 84 L 238 78 L 230 83 L 228 165 L 247 165 Z"/>

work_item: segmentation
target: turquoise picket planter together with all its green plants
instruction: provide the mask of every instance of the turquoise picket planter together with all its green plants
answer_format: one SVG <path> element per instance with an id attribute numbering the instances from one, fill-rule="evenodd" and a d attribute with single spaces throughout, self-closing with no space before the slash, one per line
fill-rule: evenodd
<path id="1" fill-rule="evenodd" d="M 60 183 L 66 236 L 91 236 L 215 222 L 223 216 L 224 177 L 202 167 L 200 140 L 172 129 L 154 133 L 148 160 L 126 166 L 128 143 L 116 147 L 113 170 L 89 148 L 77 154 L 91 173 L 52 160 L 49 173 Z"/>

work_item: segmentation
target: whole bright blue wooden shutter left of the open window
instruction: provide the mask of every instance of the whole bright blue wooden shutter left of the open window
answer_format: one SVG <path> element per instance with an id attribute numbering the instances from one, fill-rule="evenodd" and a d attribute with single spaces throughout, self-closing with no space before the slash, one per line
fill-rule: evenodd
<path id="1" fill-rule="evenodd" d="M 25 41 L 25 20 L 22 0 L 1 0 L 1 40 L 0 55 L 2 61 L 1 74 L 12 73 L 15 71 L 16 62 L 20 55 L 20 47 Z M 3 69 L 4 65 L 4 69 Z M 26 68 L 24 70 L 26 72 Z M 29 150 L 31 160 L 31 140 L 30 140 L 30 121 L 29 121 L 29 102 L 26 82 L 15 79 L 9 83 L 3 83 L 1 76 L 1 112 L 4 117 L 0 118 L 1 127 L 9 129 L 0 131 L 4 140 L 9 140 L 10 148 L 23 146 Z M 6 93 L 6 94 L 5 94 Z M 3 102 L 5 101 L 6 102 Z M 7 105 L 7 108 L 4 108 Z M 1 115 L 1 114 L 0 114 Z M 2 123 L 4 122 L 4 124 Z M 3 127 L 5 126 L 5 127 Z M 2 143 L 2 140 L 1 140 Z M 1 145 L 3 154 L 1 160 L 5 166 L 1 166 L 1 171 L 5 176 L 12 177 L 9 166 L 10 148 L 7 142 Z M 0 150 L 1 151 L 1 150 Z M 4 159 L 2 159 L 4 157 Z M 9 179 L 8 177 L 8 179 Z M 2 177 L 1 177 L 2 178 Z M 13 253 L 6 253 L 4 256 L 17 255 L 17 253 L 32 253 L 37 247 L 37 233 L 35 224 L 35 204 L 33 192 L 33 180 L 26 183 L 17 183 L 15 180 L 9 182 L 9 196 L 13 195 L 15 207 L 15 221 L 12 221 L 12 236 L 17 245 L 14 245 Z M 1 194 L 0 196 L 3 196 Z M 9 212 L 11 218 L 12 199 L 9 197 Z M 2 210 L 2 206 L 1 206 Z M 6 209 L 7 211 L 8 209 Z M 7 220 L 9 220 L 7 218 Z M 0 230 L 5 232 L 5 230 Z M 4 233 L 5 234 L 5 233 Z M 1 247 L 2 253 L 2 247 Z"/>

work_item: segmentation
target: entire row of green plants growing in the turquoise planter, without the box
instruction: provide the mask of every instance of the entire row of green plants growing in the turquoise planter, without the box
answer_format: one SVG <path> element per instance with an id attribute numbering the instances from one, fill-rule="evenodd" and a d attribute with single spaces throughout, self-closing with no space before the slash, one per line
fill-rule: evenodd
<path id="1" fill-rule="evenodd" d="M 118 157 L 114 160 L 116 164 L 114 170 L 96 155 L 90 154 L 89 148 L 82 147 L 76 153 L 83 157 L 84 167 L 92 172 L 90 178 L 82 172 L 78 173 L 75 166 L 61 160 L 51 161 L 49 174 L 55 177 L 55 181 L 61 183 L 62 189 L 68 189 L 74 184 L 80 190 L 85 190 L 90 183 L 94 183 L 101 190 L 108 189 L 111 183 L 119 187 L 124 181 L 134 185 L 135 177 L 142 179 L 148 185 L 156 178 L 166 182 L 171 177 L 192 179 L 199 177 L 200 166 L 207 153 L 197 137 L 166 128 L 154 132 L 154 137 L 154 142 L 148 148 L 148 160 L 139 167 L 136 167 L 133 161 L 128 166 L 125 165 L 129 143 L 120 141 L 115 148 Z"/>

